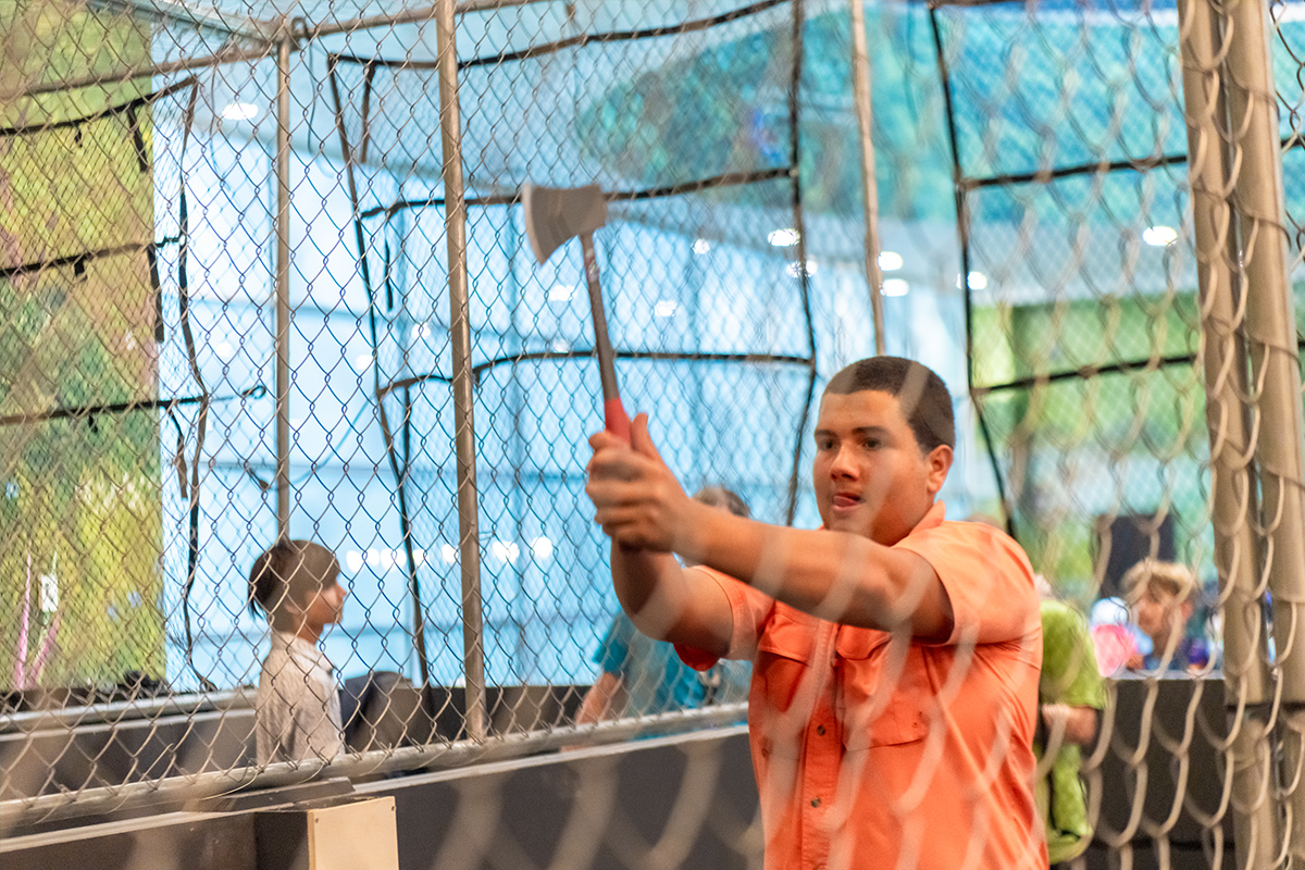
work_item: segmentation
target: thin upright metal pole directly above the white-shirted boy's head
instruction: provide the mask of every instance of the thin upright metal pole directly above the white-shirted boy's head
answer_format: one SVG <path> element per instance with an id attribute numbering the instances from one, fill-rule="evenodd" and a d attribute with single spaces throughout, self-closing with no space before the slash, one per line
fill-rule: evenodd
<path id="1" fill-rule="evenodd" d="M 290 43 L 277 46 L 277 537 L 290 537 Z"/>

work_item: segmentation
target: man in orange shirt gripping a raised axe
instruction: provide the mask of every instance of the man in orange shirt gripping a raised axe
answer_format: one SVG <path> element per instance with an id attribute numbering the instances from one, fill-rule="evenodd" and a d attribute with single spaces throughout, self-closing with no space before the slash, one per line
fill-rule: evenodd
<path id="1" fill-rule="evenodd" d="M 830 380 L 814 531 L 696 505 L 646 416 L 632 432 L 630 446 L 590 438 L 616 593 L 693 667 L 753 660 L 766 867 L 1047 866 L 1034 571 L 1001 531 L 944 519 L 955 432 L 942 380 L 899 357 Z"/>

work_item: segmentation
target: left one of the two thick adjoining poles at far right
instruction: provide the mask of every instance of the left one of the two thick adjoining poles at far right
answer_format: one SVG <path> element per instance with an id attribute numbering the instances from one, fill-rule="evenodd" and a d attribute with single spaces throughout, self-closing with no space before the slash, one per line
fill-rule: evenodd
<path id="1" fill-rule="evenodd" d="M 1279 835 L 1271 788 L 1265 702 L 1271 697 L 1265 621 L 1259 607 L 1255 480 L 1250 466 L 1246 410 L 1246 348 L 1241 339 L 1237 228 L 1229 193 L 1228 129 L 1216 22 L 1208 0 L 1180 0 L 1182 93 L 1188 123 L 1206 425 L 1212 479 L 1211 522 L 1220 600 L 1224 601 L 1224 704 L 1232 745 L 1233 843 L 1238 867 L 1274 863 Z"/>

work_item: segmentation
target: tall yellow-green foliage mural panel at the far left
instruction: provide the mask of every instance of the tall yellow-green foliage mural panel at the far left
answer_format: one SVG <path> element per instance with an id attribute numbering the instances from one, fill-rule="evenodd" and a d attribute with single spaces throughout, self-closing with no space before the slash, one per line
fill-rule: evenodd
<path id="1" fill-rule="evenodd" d="M 149 61 L 82 5 L 3 0 L 0 39 L 7 93 Z M 158 395 L 147 87 L 0 104 L 0 689 L 164 676 L 158 416 L 84 411 Z"/>

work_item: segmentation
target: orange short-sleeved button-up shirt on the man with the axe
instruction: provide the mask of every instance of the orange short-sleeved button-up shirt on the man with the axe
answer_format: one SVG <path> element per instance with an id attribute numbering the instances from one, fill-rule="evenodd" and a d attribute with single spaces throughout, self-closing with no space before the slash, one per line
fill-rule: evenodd
<path id="1" fill-rule="evenodd" d="M 942 580 L 955 617 L 945 643 L 821 620 L 696 569 L 729 597 L 727 657 L 754 663 L 748 724 L 766 867 L 1045 867 L 1028 557 L 994 528 L 944 522 L 942 502 L 897 547 Z"/>

